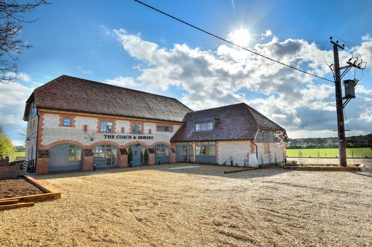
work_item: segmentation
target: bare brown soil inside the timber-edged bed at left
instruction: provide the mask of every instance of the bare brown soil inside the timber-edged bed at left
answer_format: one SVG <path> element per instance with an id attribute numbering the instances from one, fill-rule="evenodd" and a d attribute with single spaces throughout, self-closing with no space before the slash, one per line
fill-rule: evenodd
<path id="1" fill-rule="evenodd" d="M 24 178 L 9 178 L 0 180 L 0 199 L 10 197 L 23 197 L 24 195 L 43 194 L 35 185 Z"/>

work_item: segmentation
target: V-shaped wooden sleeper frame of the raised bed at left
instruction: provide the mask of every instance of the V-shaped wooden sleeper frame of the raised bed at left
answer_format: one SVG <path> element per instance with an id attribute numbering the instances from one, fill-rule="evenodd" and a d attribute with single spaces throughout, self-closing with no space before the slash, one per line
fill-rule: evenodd
<path id="1" fill-rule="evenodd" d="M 46 193 L 37 195 L 25 195 L 22 197 L 2 198 L 0 199 L 0 210 L 33 206 L 35 201 L 45 201 L 61 197 L 61 192 L 54 190 L 53 188 L 49 187 L 43 182 L 36 180 L 35 178 L 27 175 L 19 175 L 19 177 L 25 178 L 27 181 L 31 182 L 33 185 Z M 11 202 L 13 202 L 14 204 L 10 204 Z"/>

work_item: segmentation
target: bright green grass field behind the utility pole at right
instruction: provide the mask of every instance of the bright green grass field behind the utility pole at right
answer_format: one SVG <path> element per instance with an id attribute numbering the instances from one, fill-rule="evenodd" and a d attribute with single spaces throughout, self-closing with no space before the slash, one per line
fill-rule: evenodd
<path id="1" fill-rule="evenodd" d="M 303 157 L 337 157 L 339 156 L 338 148 L 319 148 L 319 149 L 301 149 Z M 353 148 L 354 157 L 372 157 L 371 148 Z M 298 157 L 298 149 L 287 149 L 288 157 Z M 352 157 L 351 148 L 346 148 L 346 156 Z"/>

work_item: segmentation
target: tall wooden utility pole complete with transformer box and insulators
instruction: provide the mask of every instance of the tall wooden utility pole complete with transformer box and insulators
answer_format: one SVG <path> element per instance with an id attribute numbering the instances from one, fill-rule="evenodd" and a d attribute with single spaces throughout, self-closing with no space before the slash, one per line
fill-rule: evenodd
<path id="1" fill-rule="evenodd" d="M 355 98 L 355 91 L 354 87 L 359 80 L 344 80 L 344 89 L 345 89 L 345 96 L 342 97 L 342 89 L 341 89 L 341 79 L 349 72 L 349 70 L 354 67 L 356 69 L 365 69 L 366 62 L 363 62 L 360 57 L 352 57 L 346 63 L 346 66 L 340 67 L 339 62 L 339 49 L 344 49 L 345 45 L 340 46 L 337 40 L 336 42 L 332 41 L 332 37 L 330 37 L 331 43 L 333 44 L 333 57 L 334 57 L 334 85 L 336 87 L 336 111 L 337 111 L 337 132 L 339 136 L 339 159 L 340 159 L 340 166 L 346 167 L 346 138 L 345 138 L 345 126 L 344 126 L 344 107 L 347 103 L 353 98 Z M 356 59 L 355 59 L 356 58 Z M 352 59 L 355 59 L 353 62 L 350 62 Z M 359 62 L 360 61 L 360 62 Z M 359 62 L 357 64 L 357 62 Z M 360 67 L 362 64 L 365 64 L 364 68 Z M 331 65 L 332 66 L 332 65 Z M 330 66 L 330 67 L 331 67 Z M 344 71 L 341 73 L 341 70 Z M 346 100 L 343 102 L 343 100 Z"/>

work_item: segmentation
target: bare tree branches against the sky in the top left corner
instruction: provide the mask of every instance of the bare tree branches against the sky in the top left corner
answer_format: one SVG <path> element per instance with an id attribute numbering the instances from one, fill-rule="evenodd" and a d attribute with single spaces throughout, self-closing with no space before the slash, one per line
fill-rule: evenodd
<path id="1" fill-rule="evenodd" d="M 35 20 L 25 20 L 23 16 L 26 13 L 30 13 L 40 5 L 47 5 L 44 0 L 35 0 L 33 3 L 20 4 L 16 0 L 6 1 L 0 0 L 0 82 L 7 84 L 9 82 L 15 82 L 18 75 L 17 63 L 18 54 L 23 52 L 23 49 L 29 49 L 32 46 L 24 44 L 21 39 L 18 38 L 23 26 L 22 23 L 36 22 Z M 8 58 L 5 58 L 7 56 Z M 9 57 L 13 62 L 9 62 Z"/>

